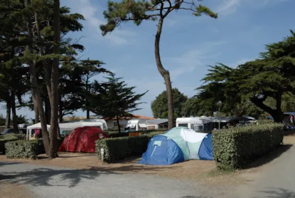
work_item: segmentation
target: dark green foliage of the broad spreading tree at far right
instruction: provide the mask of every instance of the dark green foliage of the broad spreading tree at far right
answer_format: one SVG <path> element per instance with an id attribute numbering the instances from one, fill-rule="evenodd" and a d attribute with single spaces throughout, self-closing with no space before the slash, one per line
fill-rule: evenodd
<path id="1" fill-rule="evenodd" d="M 210 66 L 203 78 L 206 84 L 198 88 L 201 106 L 216 110 L 214 105 L 221 100 L 222 111 L 231 115 L 246 114 L 257 118 L 265 112 L 281 122 L 283 110 L 294 108 L 291 102 L 295 93 L 294 48 L 295 33 L 291 31 L 283 41 L 267 45 L 261 58 L 255 61 L 237 68 L 221 63 Z"/>

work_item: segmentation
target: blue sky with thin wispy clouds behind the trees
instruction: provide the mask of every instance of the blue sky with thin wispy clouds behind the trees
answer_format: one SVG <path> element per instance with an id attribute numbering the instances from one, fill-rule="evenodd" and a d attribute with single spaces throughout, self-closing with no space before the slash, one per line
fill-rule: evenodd
<path id="1" fill-rule="evenodd" d="M 156 22 L 143 21 L 136 26 L 129 21 L 102 36 L 99 26 L 106 23 L 102 12 L 107 9 L 107 0 L 60 0 L 60 4 L 85 17 L 83 30 L 68 34 L 80 38 L 85 46 L 79 58 L 103 61 L 105 68 L 136 86 L 136 93 L 149 90 L 141 100 L 142 109 L 135 113 L 152 116 L 152 100 L 166 89 L 154 58 Z M 164 21 L 161 36 L 163 66 L 171 74 L 173 88 L 188 97 L 202 85 L 208 66 L 224 63 L 237 67 L 252 61 L 259 58 L 265 44 L 281 41 L 295 29 L 293 0 L 203 0 L 202 4 L 217 12 L 218 19 L 196 17 L 190 11 L 172 12 Z M 104 80 L 103 76 L 93 80 Z M 0 113 L 5 116 L 5 108 Z M 33 118 L 27 108 L 17 113 Z"/>

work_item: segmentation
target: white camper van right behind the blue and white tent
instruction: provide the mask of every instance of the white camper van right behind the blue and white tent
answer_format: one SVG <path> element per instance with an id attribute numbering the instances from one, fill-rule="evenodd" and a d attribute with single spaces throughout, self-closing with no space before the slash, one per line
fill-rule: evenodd
<path id="1" fill-rule="evenodd" d="M 176 118 L 176 127 L 188 127 L 196 132 L 204 131 L 208 132 L 213 130 L 213 123 L 210 118 L 202 117 L 191 117 L 191 118 Z"/>

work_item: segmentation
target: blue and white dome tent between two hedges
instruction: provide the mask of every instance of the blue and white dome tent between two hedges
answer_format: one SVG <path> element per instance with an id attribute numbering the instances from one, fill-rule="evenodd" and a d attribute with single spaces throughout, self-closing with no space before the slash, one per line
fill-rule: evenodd
<path id="1" fill-rule="evenodd" d="M 139 164 L 172 165 L 186 160 L 214 160 L 210 133 L 174 127 L 151 138 Z"/>

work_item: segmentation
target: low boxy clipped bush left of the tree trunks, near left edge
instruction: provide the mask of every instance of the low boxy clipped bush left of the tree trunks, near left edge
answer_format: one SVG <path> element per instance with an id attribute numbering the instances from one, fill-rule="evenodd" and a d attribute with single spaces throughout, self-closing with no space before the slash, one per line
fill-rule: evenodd
<path id="1" fill-rule="evenodd" d="M 18 140 L 6 142 L 6 157 L 7 158 L 24 158 L 37 159 L 38 155 L 38 140 Z"/>

